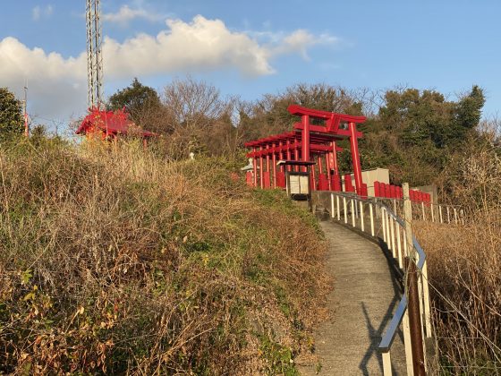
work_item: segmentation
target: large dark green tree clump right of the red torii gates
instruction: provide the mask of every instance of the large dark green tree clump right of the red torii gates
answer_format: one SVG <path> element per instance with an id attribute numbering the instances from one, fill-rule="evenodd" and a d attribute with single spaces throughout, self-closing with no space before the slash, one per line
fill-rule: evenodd
<path id="1" fill-rule="evenodd" d="M 484 104 L 473 86 L 457 101 L 435 90 L 389 90 L 376 119 L 363 126 L 362 167 L 389 168 L 393 183 L 430 184 L 476 132 Z"/>

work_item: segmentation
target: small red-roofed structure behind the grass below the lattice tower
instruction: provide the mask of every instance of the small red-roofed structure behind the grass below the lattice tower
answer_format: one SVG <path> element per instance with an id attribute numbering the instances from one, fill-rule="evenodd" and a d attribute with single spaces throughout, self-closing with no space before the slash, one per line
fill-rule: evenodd
<path id="1" fill-rule="evenodd" d="M 140 136 L 144 141 L 149 137 L 156 136 L 153 132 L 140 129 L 123 109 L 106 111 L 98 108 L 89 109 L 89 115 L 84 117 L 76 133 L 99 134 L 103 139 L 115 139 L 121 134 L 133 134 Z"/>

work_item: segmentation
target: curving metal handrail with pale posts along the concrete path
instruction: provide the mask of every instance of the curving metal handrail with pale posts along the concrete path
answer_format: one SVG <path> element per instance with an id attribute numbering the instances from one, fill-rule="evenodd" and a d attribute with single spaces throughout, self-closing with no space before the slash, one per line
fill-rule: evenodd
<path id="1" fill-rule="evenodd" d="M 335 199 L 335 196 L 337 198 Z M 393 252 L 393 257 L 395 260 L 398 260 L 398 267 L 400 270 L 403 270 L 403 254 L 407 253 L 409 256 L 412 256 L 411 250 L 407 251 L 407 244 L 402 243 L 400 239 L 400 235 L 405 234 L 405 222 L 403 218 L 400 218 L 396 215 L 396 213 L 388 208 L 385 203 L 379 200 L 380 198 L 362 198 L 361 196 L 357 196 L 354 193 L 346 193 L 346 192 L 331 192 L 331 217 L 335 218 L 335 212 L 337 214 L 337 219 L 342 221 L 342 217 L 344 218 L 344 223 L 348 225 L 348 211 L 351 211 L 351 224 L 353 227 L 356 226 L 356 218 L 360 218 L 360 226 L 361 231 L 365 231 L 364 226 L 364 205 L 369 205 L 369 218 L 370 218 L 370 235 L 375 238 L 381 239 L 381 235 L 376 234 L 375 231 L 375 214 L 377 216 L 377 210 L 379 210 L 379 216 L 381 218 L 381 227 L 382 230 L 382 239 L 386 244 L 387 249 Z M 384 199 L 384 198 L 383 198 Z M 336 202 L 335 202 L 336 201 Z M 341 216 L 341 201 L 343 201 L 343 216 Z M 349 204 L 348 204 L 349 201 Z M 336 210 L 335 210 L 336 206 Z M 375 213 L 376 212 L 376 213 Z M 402 231 L 401 231 L 402 229 Z M 379 233 L 379 229 L 378 229 Z M 417 260 L 416 267 L 419 269 L 419 279 L 420 279 L 420 289 L 418 292 L 420 299 L 420 314 L 424 314 L 424 325 L 423 330 L 426 332 L 426 337 L 431 337 L 431 322 L 430 322 L 430 314 L 429 314 L 429 291 L 428 291 L 428 271 L 427 271 L 427 256 L 420 246 L 418 240 L 415 236 L 412 236 L 412 249 L 416 251 Z M 404 293 L 400 302 L 398 303 L 395 314 L 390 320 L 389 324 L 386 326 L 385 334 L 381 338 L 381 341 L 378 345 L 378 350 L 381 352 L 383 356 L 383 369 L 385 376 L 392 374 L 392 366 L 391 366 L 391 358 L 390 358 L 390 350 L 391 346 L 394 342 L 395 335 L 397 329 L 404 321 L 403 332 L 404 332 L 404 345 L 405 345 L 405 355 L 406 355 L 406 363 L 407 363 L 407 371 L 409 374 L 412 374 L 412 352 L 410 345 L 410 333 L 409 333 L 409 324 L 407 319 L 407 305 L 408 305 L 408 297 L 407 294 Z M 424 311 L 424 312 L 423 312 Z"/>

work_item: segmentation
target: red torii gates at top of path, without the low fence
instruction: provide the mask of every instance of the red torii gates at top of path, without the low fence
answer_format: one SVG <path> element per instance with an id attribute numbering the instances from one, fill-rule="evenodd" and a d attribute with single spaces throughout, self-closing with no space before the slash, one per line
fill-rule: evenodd
<path id="1" fill-rule="evenodd" d="M 261 188 L 270 186 L 274 188 L 277 186 L 284 187 L 284 167 L 280 167 L 280 171 L 276 171 L 276 158 L 311 161 L 311 154 L 316 154 L 318 158 L 318 185 L 315 184 L 315 168 L 312 168 L 310 178 L 313 189 L 318 187 L 319 190 L 340 191 L 337 151 L 342 151 L 342 149 L 336 146 L 335 142 L 349 138 L 356 192 L 366 194 L 361 178 L 361 162 L 358 150 L 358 139 L 363 134 L 357 131 L 356 127 L 356 124 L 364 123 L 366 118 L 364 116 L 320 111 L 297 105 L 289 106 L 287 109 L 291 114 L 301 116 L 301 122 L 293 125 L 293 132 L 284 132 L 245 143 L 247 148 L 252 148 L 252 151 L 247 154 L 248 157 L 253 158 L 253 178 L 249 183 Z M 311 124 L 312 119 L 321 124 Z M 341 124 L 347 124 L 347 128 L 340 127 Z M 324 174 L 322 157 L 325 158 L 327 175 Z M 266 171 L 263 166 L 265 161 Z M 270 162 L 272 169 L 270 169 Z M 290 171 L 292 167 L 288 166 L 287 168 Z M 273 179 L 270 174 L 273 175 Z M 347 184 L 345 183 L 345 185 Z M 351 185 L 351 178 L 349 184 Z M 345 190 L 348 190 L 347 187 L 345 187 Z"/>

